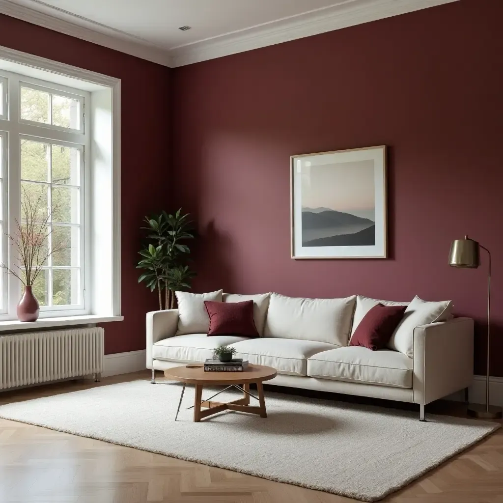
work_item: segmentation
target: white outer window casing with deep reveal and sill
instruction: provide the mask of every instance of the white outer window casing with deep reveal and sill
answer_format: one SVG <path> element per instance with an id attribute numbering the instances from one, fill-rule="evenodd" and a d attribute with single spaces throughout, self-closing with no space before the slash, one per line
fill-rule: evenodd
<path id="1" fill-rule="evenodd" d="M 86 110 L 86 127 L 91 123 L 91 149 L 86 156 L 92 176 L 86 197 L 90 199 L 88 223 L 92 239 L 87 242 L 90 249 L 86 249 L 86 254 L 91 256 L 93 268 L 90 314 L 56 317 L 52 313 L 36 322 L 20 322 L 15 313 L 10 313 L 10 319 L 0 320 L 0 332 L 121 321 L 121 80 L 0 46 L 0 73 L 6 72 L 91 93 L 91 106 L 88 103 Z M 0 130 L 5 129 L 4 124 L 0 119 Z M 39 126 L 29 126 L 38 136 L 35 131 Z M 8 148 L 12 145 L 17 148 L 11 135 Z M 19 299 L 19 291 L 16 297 Z"/>

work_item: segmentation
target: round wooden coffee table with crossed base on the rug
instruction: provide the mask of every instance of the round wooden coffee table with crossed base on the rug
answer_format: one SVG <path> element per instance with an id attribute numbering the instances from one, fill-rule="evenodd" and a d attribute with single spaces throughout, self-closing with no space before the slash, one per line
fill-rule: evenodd
<path id="1" fill-rule="evenodd" d="M 204 365 L 194 364 L 166 369 L 164 371 L 164 376 L 167 379 L 173 379 L 174 381 L 184 383 L 182 394 L 180 396 L 180 402 L 178 403 L 175 421 L 177 420 L 178 412 L 180 411 L 185 386 L 187 384 L 196 385 L 194 421 L 199 422 L 204 417 L 216 414 L 217 412 L 222 412 L 222 410 L 238 410 L 239 412 L 249 412 L 251 414 L 259 414 L 261 417 L 267 417 L 266 401 L 264 400 L 264 386 L 262 383 L 276 377 L 276 369 L 266 367 L 264 365 L 250 364 L 242 372 L 205 372 Z M 258 397 L 249 392 L 251 383 L 257 384 L 257 389 L 259 391 Z M 203 400 L 203 386 L 227 386 L 225 389 L 237 388 L 243 392 L 243 397 L 239 400 L 234 400 L 228 403 L 211 401 L 211 398 L 222 393 L 222 391 L 225 391 L 225 389 L 223 389 L 207 400 Z M 249 404 L 250 396 L 259 400 L 258 407 Z M 201 410 L 201 407 L 205 407 L 206 410 Z"/>

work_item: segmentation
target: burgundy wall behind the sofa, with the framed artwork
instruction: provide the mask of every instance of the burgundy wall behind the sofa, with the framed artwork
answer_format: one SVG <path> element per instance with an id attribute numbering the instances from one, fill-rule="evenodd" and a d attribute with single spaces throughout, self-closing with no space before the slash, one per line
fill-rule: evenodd
<path id="1" fill-rule="evenodd" d="M 195 290 L 453 299 L 479 321 L 483 373 L 487 260 L 447 265 L 467 233 L 492 252 L 503 376 L 501 19 L 500 0 L 461 0 L 175 69 L 176 200 L 202 233 Z M 290 259 L 289 156 L 381 144 L 389 260 Z"/>

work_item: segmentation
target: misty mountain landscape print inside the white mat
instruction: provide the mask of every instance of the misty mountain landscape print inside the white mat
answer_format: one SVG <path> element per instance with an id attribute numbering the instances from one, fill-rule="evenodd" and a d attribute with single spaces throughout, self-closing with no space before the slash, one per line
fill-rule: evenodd
<path id="1" fill-rule="evenodd" d="M 374 246 L 374 162 L 306 168 L 302 176 L 302 246 Z"/>

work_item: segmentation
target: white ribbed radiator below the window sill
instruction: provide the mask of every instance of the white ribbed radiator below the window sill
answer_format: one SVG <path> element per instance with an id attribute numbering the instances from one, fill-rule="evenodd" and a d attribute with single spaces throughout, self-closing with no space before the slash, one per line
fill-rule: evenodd
<path id="1" fill-rule="evenodd" d="M 0 336 L 0 389 L 103 372 L 105 329 Z"/>

